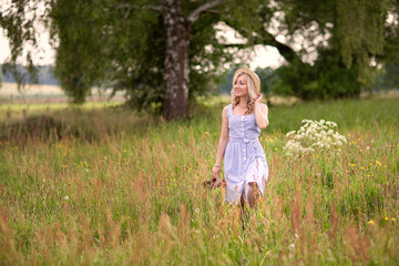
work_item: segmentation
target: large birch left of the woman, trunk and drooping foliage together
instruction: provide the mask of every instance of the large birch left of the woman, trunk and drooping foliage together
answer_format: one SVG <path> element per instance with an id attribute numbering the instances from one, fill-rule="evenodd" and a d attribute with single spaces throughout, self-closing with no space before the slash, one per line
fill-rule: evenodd
<path id="1" fill-rule="evenodd" d="M 91 86 L 108 82 L 115 91 L 126 90 L 130 103 L 140 108 L 162 101 L 163 115 L 172 120 L 188 113 L 191 76 L 201 86 L 211 71 L 228 61 L 214 29 L 221 16 L 215 9 L 223 2 L 227 1 L 19 0 L 2 12 L 1 27 L 16 62 L 23 41 L 35 41 L 37 18 L 23 23 L 27 10 L 34 13 L 44 4 L 43 21 L 59 43 L 55 74 L 75 102 L 84 101 Z"/>

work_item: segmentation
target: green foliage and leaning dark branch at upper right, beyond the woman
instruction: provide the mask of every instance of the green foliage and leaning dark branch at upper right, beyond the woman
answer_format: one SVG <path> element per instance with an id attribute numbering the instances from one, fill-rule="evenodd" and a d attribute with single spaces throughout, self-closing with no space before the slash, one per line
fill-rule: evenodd
<path id="1" fill-rule="evenodd" d="M 320 4 L 282 0 L 264 11 L 275 14 L 284 43 L 267 28 L 239 32 L 248 40 L 256 37 L 257 43 L 276 47 L 285 57 L 287 63 L 276 73 L 274 92 L 304 100 L 358 96 L 362 89 L 374 89 L 376 69 L 371 61 L 398 61 L 397 6 L 395 1 L 328 0 Z M 272 17 L 258 17 L 258 23 L 277 27 Z M 299 44 L 299 51 L 290 43 Z M 315 51 L 314 64 L 304 62 Z"/>

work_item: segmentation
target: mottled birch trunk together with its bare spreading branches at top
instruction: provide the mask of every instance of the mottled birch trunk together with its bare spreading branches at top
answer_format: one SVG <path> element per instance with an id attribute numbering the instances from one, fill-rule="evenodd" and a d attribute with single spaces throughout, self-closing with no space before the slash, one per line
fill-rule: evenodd
<path id="1" fill-rule="evenodd" d="M 163 80 L 165 86 L 163 116 L 166 120 L 184 119 L 188 115 L 190 88 L 190 48 L 193 24 L 208 10 L 221 6 L 227 0 L 201 2 L 188 14 L 183 12 L 182 0 L 162 0 L 158 6 L 123 3 L 119 8 L 127 10 L 147 9 L 158 12 L 163 19 L 165 37 L 165 59 Z"/>

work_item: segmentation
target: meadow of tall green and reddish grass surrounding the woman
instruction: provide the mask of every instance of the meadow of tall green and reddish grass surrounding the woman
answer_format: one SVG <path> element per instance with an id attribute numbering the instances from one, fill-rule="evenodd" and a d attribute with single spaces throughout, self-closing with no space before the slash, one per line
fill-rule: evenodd
<path id="1" fill-rule="evenodd" d="M 30 105 L 23 123 L 1 106 L 2 264 L 399 264 L 399 100 L 272 108 L 269 180 L 244 222 L 223 188 L 201 185 L 224 104 L 171 123 L 100 104 Z M 336 122 L 342 152 L 287 157 L 285 134 L 303 119 Z"/>

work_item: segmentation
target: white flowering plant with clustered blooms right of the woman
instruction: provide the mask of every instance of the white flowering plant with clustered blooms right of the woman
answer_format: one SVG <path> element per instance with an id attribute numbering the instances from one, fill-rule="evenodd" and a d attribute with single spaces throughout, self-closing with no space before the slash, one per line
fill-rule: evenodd
<path id="1" fill-rule="evenodd" d="M 340 152 L 340 146 L 347 143 L 345 136 L 335 131 L 337 124 L 330 121 L 303 120 L 305 123 L 298 131 L 286 134 L 289 139 L 284 146 L 288 156 L 304 155 L 316 151 Z"/>

